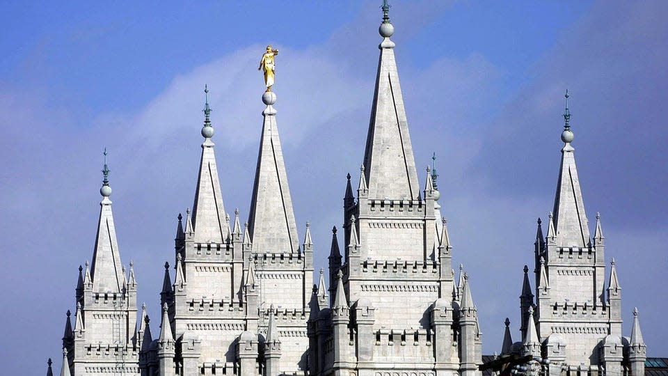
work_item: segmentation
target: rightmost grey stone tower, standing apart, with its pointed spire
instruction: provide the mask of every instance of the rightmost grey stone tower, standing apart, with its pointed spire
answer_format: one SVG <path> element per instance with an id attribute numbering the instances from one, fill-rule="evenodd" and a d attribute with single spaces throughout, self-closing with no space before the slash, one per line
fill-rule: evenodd
<path id="1" fill-rule="evenodd" d="M 570 118 L 566 93 L 564 147 L 554 210 L 545 237 L 539 219 L 534 243 L 535 301 L 525 266 L 520 295 L 522 341 L 510 347 L 507 333 L 502 354 L 516 352 L 550 359 L 550 375 L 603 371 L 621 375 L 624 370 L 642 375 L 642 336 L 636 336 L 633 347 L 621 335 L 621 285 L 614 259 L 606 283 L 605 237 L 599 214 L 594 237 L 589 236 Z M 635 312 L 634 328 L 638 325 L 639 333 Z M 633 354 L 641 354 L 634 360 L 630 356 L 633 348 L 638 349 Z"/>

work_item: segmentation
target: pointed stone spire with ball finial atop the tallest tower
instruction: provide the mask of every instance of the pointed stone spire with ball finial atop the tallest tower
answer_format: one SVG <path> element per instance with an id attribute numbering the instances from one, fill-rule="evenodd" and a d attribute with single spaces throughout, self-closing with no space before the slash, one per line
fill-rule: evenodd
<path id="1" fill-rule="evenodd" d="M 365 180 L 369 198 L 417 199 L 420 186 L 395 62 L 395 43 L 390 40 L 394 26 L 388 12 L 389 6 L 383 5 L 379 28 L 383 41 L 364 156 Z"/>

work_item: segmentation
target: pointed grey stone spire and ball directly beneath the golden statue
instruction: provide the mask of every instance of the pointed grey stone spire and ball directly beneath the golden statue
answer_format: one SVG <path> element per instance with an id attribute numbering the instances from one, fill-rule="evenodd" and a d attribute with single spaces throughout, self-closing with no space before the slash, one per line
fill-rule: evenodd
<path id="1" fill-rule="evenodd" d="M 248 217 L 253 249 L 299 252 L 292 198 L 278 138 L 276 110 L 273 109 L 276 94 L 265 92 L 262 100 L 267 109 L 262 112 L 264 122 Z"/>

